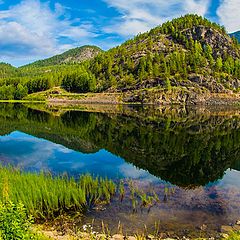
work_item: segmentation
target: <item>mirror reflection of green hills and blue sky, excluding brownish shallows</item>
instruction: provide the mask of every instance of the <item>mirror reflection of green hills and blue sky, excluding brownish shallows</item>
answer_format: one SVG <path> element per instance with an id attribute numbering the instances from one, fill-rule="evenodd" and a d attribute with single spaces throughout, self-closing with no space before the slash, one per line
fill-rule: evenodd
<path id="1" fill-rule="evenodd" d="M 140 108 L 56 116 L 1 104 L 0 123 L 0 134 L 10 134 L 0 138 L 3 161 L 35 170 L 87 171 L 110 178 L 148 175 L 192 188 L 221 179 L 240 162 L 237 111 Z"/>

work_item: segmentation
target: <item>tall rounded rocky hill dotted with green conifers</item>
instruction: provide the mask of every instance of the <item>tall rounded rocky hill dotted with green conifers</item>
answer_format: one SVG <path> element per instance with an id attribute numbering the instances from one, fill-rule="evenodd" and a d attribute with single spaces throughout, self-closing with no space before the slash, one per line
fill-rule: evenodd
<path id="1" fill-rule="evenodd" d="M 176 97 L 181 92 L 198 96 L 237 92 L 239 57 L 239 45 L 224 28 L 200 16 L 186 15 L 98 55 L 90 70 L 98 79 L 98 91 L 141 90 L 129 100 L 147 98 L 149 102 L 155 101 L 150 98 L 155 98 L 153 90 L 159 88 L 175 89 Z M 181 100 L 186 97 L 189 94 L 183 94 Z"/>

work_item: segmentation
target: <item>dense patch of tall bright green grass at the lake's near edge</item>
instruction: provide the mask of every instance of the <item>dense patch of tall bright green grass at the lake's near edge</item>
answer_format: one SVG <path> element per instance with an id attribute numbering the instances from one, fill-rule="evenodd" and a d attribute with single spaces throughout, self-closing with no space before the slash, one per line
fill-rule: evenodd
<path id="1" fill-rule="evenodd" d="M 52 219 L 63 213 L 83 213 L 98 203 L 110 202 L 115 184 L 83 175 L 78 181 L 49 174 L 0 168 L 0 201 L 22 203 L 36 219 Z"/>

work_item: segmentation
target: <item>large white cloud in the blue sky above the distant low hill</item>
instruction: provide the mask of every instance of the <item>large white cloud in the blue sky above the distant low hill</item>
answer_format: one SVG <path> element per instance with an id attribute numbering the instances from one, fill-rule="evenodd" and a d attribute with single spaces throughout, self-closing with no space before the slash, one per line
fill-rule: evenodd
<path id="1" fill-rule="evenodd" d="M 0 11 L 0 55 L 5 58 L 50 56 L 73 47 L 71 43 L 87 42 L 95 36 L 92 30 L 90 24 L 71 19 L 59 3 L 51 9 L 49 2 L 23 0 Z M 62 38 L 68 44 L 62 44 Z"/>

